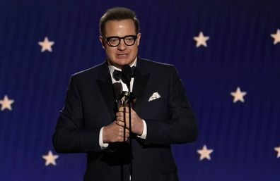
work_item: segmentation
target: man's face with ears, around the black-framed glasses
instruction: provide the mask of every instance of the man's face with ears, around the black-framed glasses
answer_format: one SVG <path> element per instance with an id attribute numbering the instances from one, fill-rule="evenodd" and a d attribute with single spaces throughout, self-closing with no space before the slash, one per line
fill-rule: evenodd
<path id="1" fill-rule="evenodd" d="M 136 35 L 133 20 L 109 20 L 105 24 L 105 37 L 125 37 L 127 35 Z M 127 46 L 127 44 L 124 44 L 124 39 L 121 39 L 119 45 L 115 47 L 109 46 L 104 37 L 99 37 L 112 65 L 122 68 L 122 65 L 134 61 L 138 53 L 141 34 L 139 33 L 136 36 L 136 42 L 132 46 Z"/>

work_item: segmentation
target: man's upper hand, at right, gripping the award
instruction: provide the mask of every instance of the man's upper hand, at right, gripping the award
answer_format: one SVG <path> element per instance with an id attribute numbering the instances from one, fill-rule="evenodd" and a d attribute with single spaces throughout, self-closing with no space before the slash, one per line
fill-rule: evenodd
<path id="1" fill-rule="evenodd" d="M 129 129 L 129 108 L 120 107 L 119 112 L 116 113 L 116 123 L 119 126 L 127 127 Z M 136 135 L 142 135 L 143 133 L 143 121 L 137 113 L 132 109 L 132 132 Z"/>

